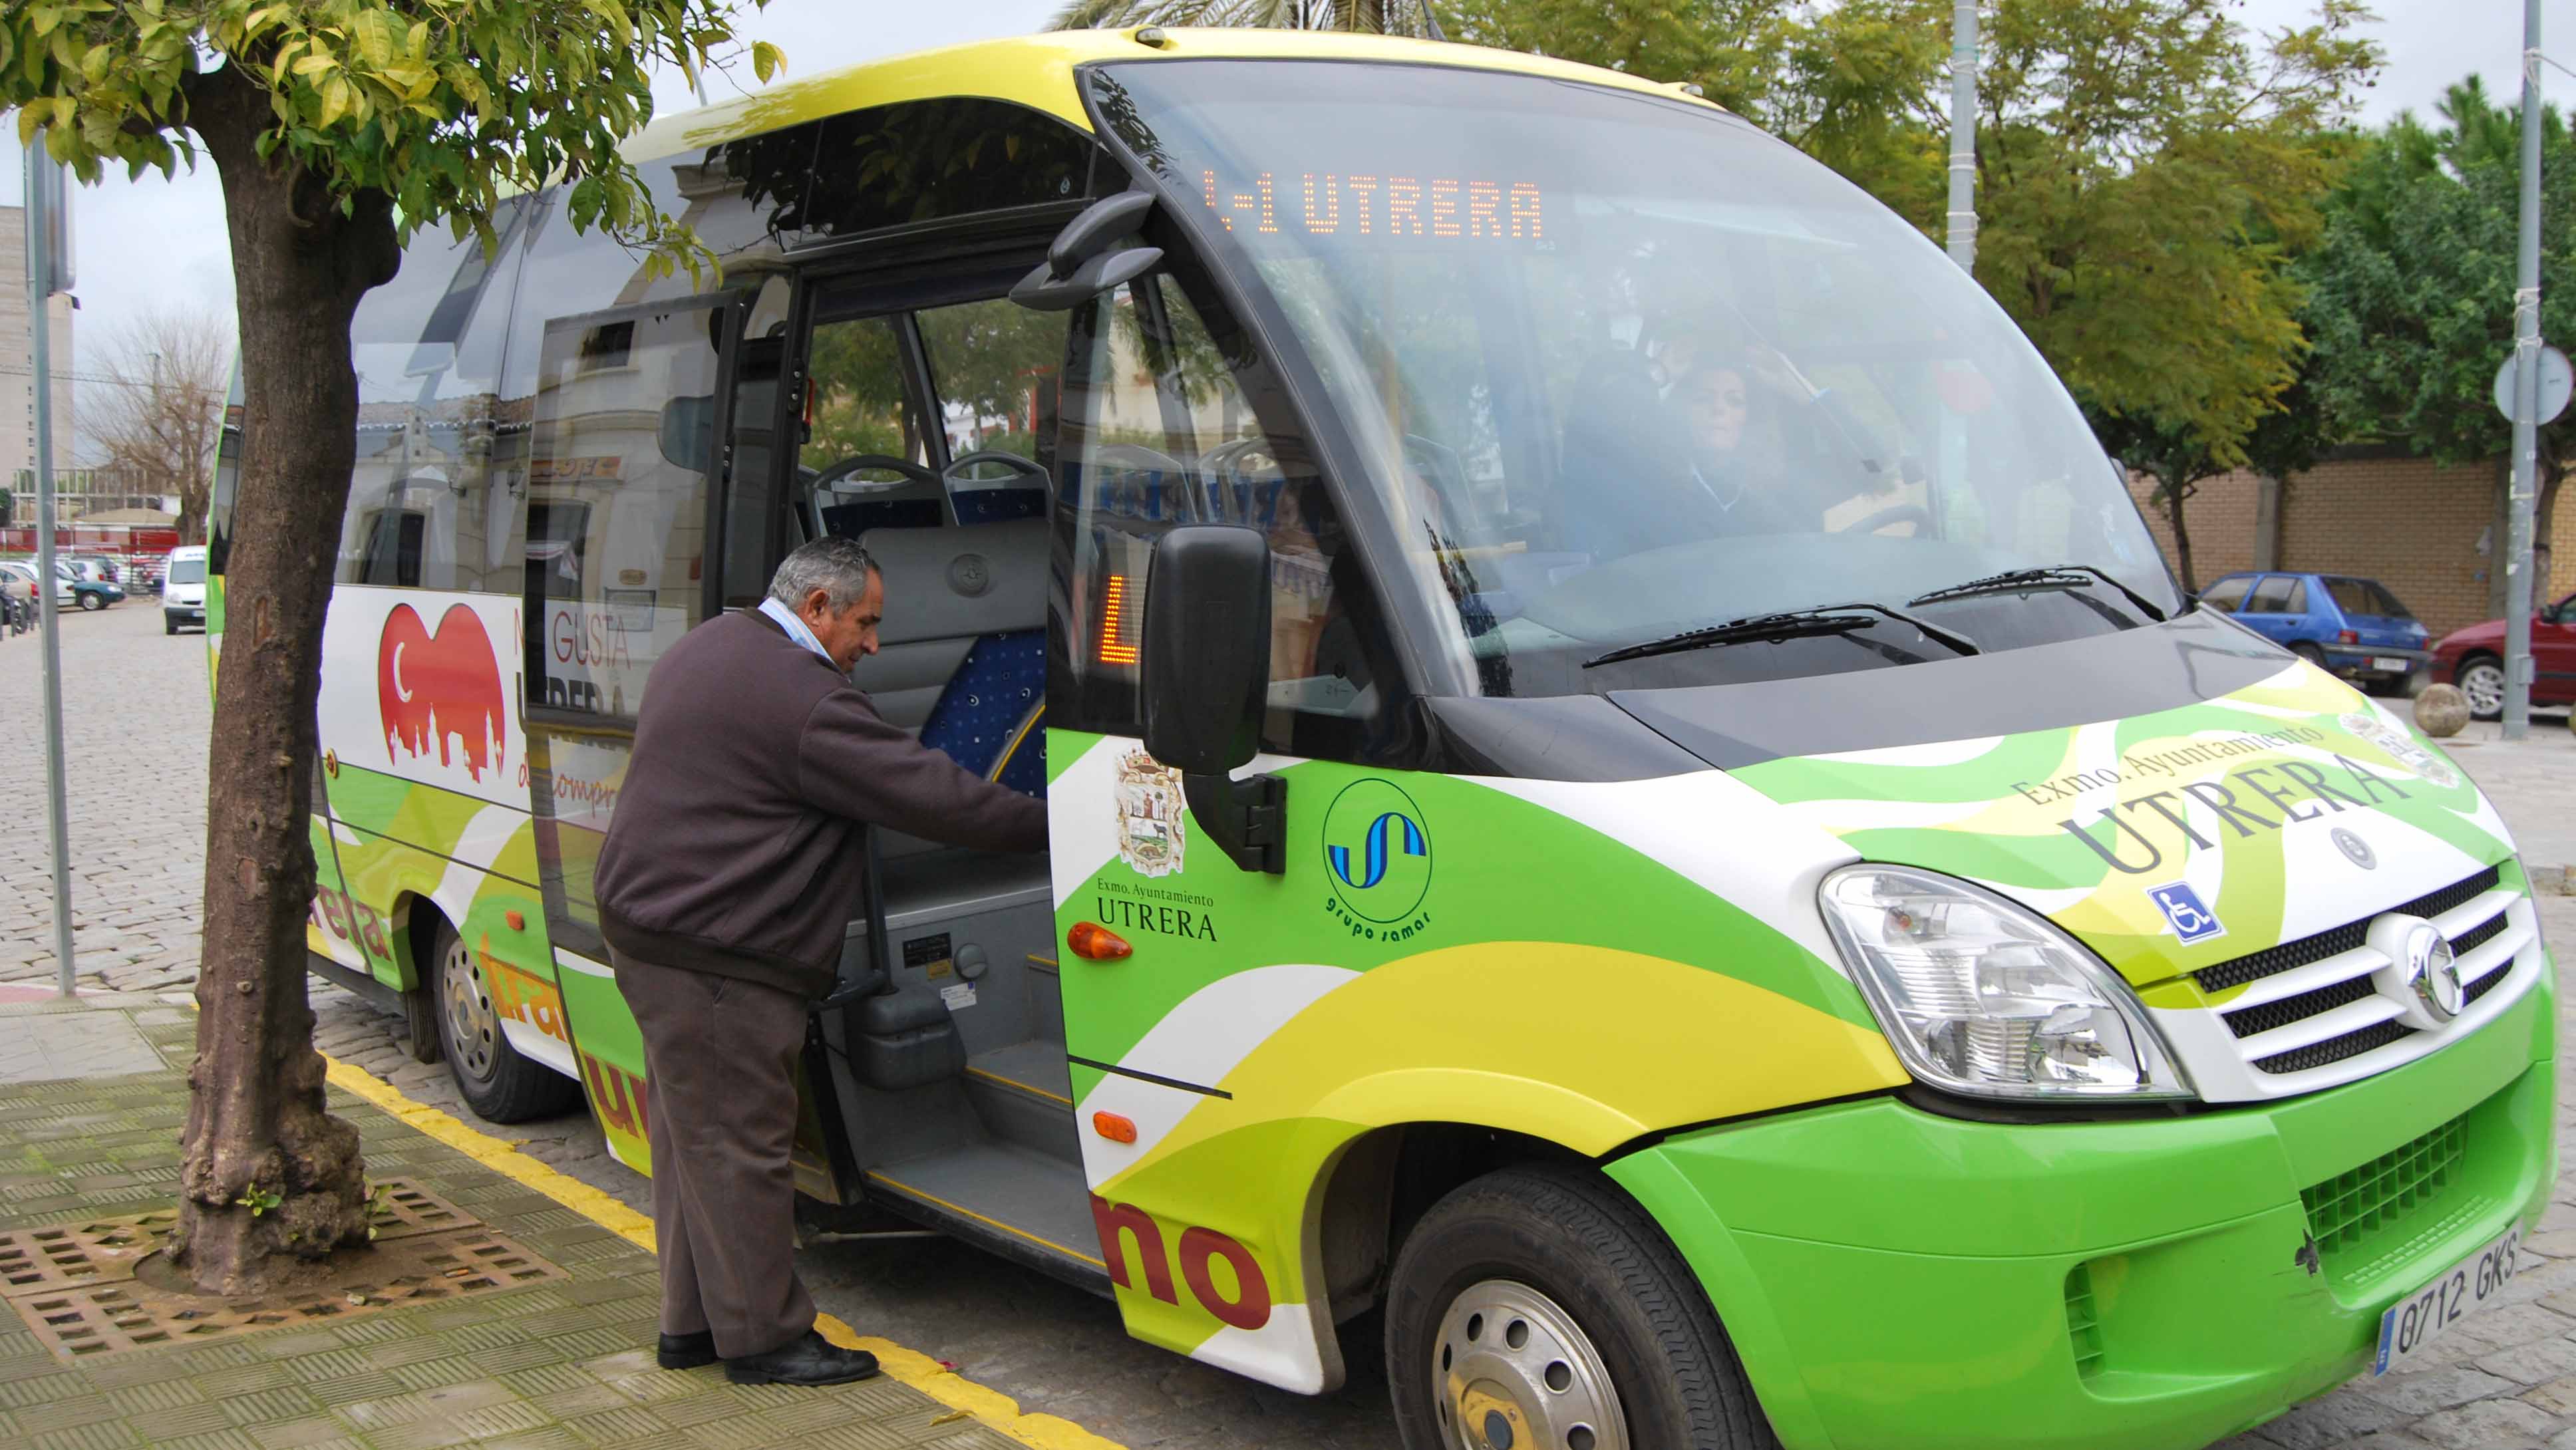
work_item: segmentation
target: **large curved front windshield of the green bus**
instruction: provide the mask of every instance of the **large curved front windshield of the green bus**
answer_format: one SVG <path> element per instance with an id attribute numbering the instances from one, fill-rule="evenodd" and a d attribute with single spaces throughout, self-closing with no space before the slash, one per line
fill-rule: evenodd
<path id="1" fill-rule="evenodd" d="M 1414 618 L 1494 695 L 1945 659 L 2179 608 L 2066 389 L 1896 214 L 1687 100 L 1455 67 L 1144 62 L 1108 131 L 1303 350 Z M 2048 569 L 2043 590 L 1935 590 Z M 2102 579 L 2099 574 L 2110 574 Z M 2148 608 L 2128 598 L 2136 590 Z"/>

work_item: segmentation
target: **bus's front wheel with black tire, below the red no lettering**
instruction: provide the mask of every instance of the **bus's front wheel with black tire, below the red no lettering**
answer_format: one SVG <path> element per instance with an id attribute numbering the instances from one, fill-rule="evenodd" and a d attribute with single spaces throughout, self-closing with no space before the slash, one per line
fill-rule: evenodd
<path id="1" fill-rule="evenodd" d="M 1492 1319 L 1479 1313 L 1489 1303 Z M 1535 1311 L 1522 1319 L 1520 1303 Z M 1548 1313 L 1577 1334 L 1569 1339 Z M 1589 1388 L 1597 1378 L 1615 1391 L 1610 1414 L 1620 1424 L 1607 1429 L 1587 1419 L 1610 1401 Z M 1522 1445 L 1780 1445 L 1682 1254 L 1636 1203 L 1574 1169 L 1502 1169 L 1422 1216 L 1386 1290 L 1386 1383 L 1406 1450 L 1481 1445 L 1455 1427 L 1468 1388 L 1489 1422 L 1520 1417 L 1507 1424 Z"/>

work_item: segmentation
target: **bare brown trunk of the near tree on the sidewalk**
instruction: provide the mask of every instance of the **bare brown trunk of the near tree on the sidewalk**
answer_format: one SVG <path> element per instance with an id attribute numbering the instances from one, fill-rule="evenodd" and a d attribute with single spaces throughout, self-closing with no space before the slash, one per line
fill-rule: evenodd
<path id="1" fill-rule="evenodd" d="M 366 1244 L 358 1131 L 322 1105 L 304 994 L 322 610 L 355 466 L 350 314 L 399 263 L 392 206 L 353 216 L 252 149 L 273 121 L 232 67 L 188 88 L 224 183 L 240 296 L 240 492 L 206 760 L 206 948 L 173 1259 L 206 1293 L 260 1293 L 281 1254 Z"/>

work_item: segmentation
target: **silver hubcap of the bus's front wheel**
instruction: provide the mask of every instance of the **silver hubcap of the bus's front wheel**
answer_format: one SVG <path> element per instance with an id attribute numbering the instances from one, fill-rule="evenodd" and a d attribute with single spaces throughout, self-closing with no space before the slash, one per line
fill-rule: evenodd
<path id="1" fill-rule="evenodd" d="M 1440 1429 L 1453 1450 L 1628 1450 L 1592 1337 L 1525 1283 L 1484 1280 L 1440 1319 Z"/>

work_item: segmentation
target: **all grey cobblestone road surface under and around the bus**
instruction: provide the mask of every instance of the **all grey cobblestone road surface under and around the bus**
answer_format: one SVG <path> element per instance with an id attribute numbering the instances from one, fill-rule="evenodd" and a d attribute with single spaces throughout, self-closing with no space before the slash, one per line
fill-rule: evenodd
<path id="1" fill-rule="evenodd" d="M 82 919 L 118 930 L 113 943 L 142 935 L 152 943 L 183 940 L 193 950 L 204 816 L 204 644 L 196 636 L 165 641 L 149 600 L 142 610 L 124 605 L 108 616 L 72 618 L 64 636 L 70 701 L 129 693 L 129 685 L 108 680 L 147 680 L 144 690 L 155 695 L 152 706 L 118 713 L 121 744 L 72 749 L 80 878 L 100 878 L 100 894 L 75 896 Z M 0 644 L 0 729 L 8 731 L 0 762 L 8 762 L 8 780 L 33 783 L 41 778 L 31 739 L 36 711 L 23 695 L 33 693 L 36 652 L 18 654 L 13 644 Z M 82 713 L 82 706 L 72 706 L 72 713 Z M 2576 734 L 2563 713 L 2537 716 L 2532 726 L 2532 737 L 2514 744 L 2496 739 L 2496 726 L 2470 726 L 2452 744 L 2460 765 L 2496 796 L 2514 824 L 2527 865 L 2535 876 L 2548 876 L 2550 868 L 2576 865 Z M 155 767 L 144 783 L 129 780 L 121 762 L 149 760 L 155 742 L 167 742 L 167 755 L 178 760 Z M 52 976 L 41 819 L 28 827 L 0 834 L 0 868 L 8 871 L 8 881 L 0 881 L 0 981 Z M 155 899 L 162 917 L 144 917 L 162 922 L 162 935 L 149 925 L 116 927 L 134 914 L 113 909 L 121 881 L 165 894 Z M 75 883 L 75 891 L 85 886 Z M 2543 896 L 2543 922 L 2561 961 L 2576 968 L 2576 896 Z M 111 945 L 111 937 L 93 937 L 98 925 L 80 940 L 82 968 L 106 974 L 103 981 L 113 984 L 118 963 L 111 956 L 124 948 Z M 137 961 L 121 966 L 129 968 L 124 984 L 170 986 L 185 981 L 191 963 L 152 963 L 147 971 L 131 971 Z M 2576 992 L 2563 989 L 2561 1002 L 2566 1017 L 2576 1010 Z M 322 1051 L 471 1120 L 446 1069 L 415 1064 L 402 1048 L 399 1020 L 322 984 L 314 984 L 314 1010 Z M 644 1180 L 608 1159 L 585 1115 L 515 1123 L 492 1133 L 629 1205 L 647 1205 Z M 2571 1169 L 2561 1177 L 2561 1203 L 2530 1241 L 2543 1262 L 2509 1288 L 2509 1306 L 2463 1324 L 2414 1373 L 2357 1380 L 2218 1450 L 2576 1450 L 2576 1082 L 2566 1074 L 2561 1164 Z M 963 1244 L 811 1244 L 801 1267 L 822 1308 L 863 1334 L 956 1360 L 969 1378 L 1133 1450 L 1396 1447 L 1373 1339 L 1345 1344 L 1350 1383 L 1340 1393 L 1306 1398 L 1136 1344 L 1118 1329 L 1108 1303 Z"/>

